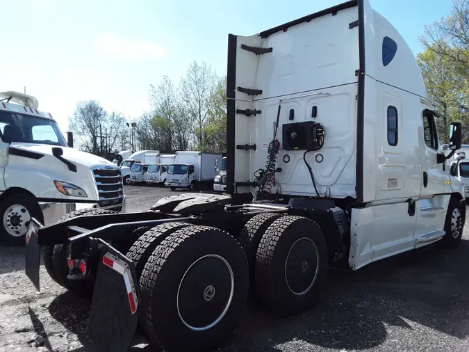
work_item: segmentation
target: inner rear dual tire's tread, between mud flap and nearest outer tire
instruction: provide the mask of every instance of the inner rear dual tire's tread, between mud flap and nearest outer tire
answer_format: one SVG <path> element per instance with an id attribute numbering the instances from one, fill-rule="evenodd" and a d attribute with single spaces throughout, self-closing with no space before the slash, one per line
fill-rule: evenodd
<path id="1" fill-rule="evenodd" d="M 150 230 L 147 230 L 138 238 L 135 243 L 131 246 L 126 254 L 126 257 L 131 259 L 137 271 L 138 278 L 142 275 L 142 271 L 145 268 L 148 258 L 150 257 L 153 250 L 158 246 L 163 239 L 168 237 L 173 232 L 180 230 L 183 227 L 190 226 L 188 223 L 164 223 Z"/>

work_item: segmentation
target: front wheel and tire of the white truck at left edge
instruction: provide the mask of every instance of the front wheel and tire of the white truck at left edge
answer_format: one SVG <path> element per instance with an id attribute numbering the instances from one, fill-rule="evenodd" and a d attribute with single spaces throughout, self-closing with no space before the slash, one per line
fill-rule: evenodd
<path id="1" fill-rule="evenodd" d="M 0 216 L 0 243 L 8 246 L 24 246 L 31 218 L 43 222 L 38 202 L 33 195 L 26 193 L 12 194 L 2 200 Z"/>

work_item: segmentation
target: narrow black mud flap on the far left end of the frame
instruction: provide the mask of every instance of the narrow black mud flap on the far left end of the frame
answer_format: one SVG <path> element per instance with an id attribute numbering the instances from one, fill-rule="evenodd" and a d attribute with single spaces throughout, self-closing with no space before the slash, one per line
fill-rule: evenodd
<path id="1" fill-rule="evenodd" d="M 41 248 L 38 241 L 40 227 L 42 227 L 40 222 L 32 218 L 26 232 L 26 247 L 24 248 L 24 271 L 38 291 L 40 290 L 39 265 Z"/>

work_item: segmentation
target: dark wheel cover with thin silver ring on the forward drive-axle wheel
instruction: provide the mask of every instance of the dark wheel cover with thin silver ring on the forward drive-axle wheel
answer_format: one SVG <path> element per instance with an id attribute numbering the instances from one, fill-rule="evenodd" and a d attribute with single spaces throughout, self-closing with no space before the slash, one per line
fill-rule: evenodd
<path id="1" fill-rule="evenodd" d="M 319 250 L 316 243 L 302 237 L 290 247 L 285 262 L 285 280 L 288 289 L 297 295 L 307 294 L 319 273 Z"/>

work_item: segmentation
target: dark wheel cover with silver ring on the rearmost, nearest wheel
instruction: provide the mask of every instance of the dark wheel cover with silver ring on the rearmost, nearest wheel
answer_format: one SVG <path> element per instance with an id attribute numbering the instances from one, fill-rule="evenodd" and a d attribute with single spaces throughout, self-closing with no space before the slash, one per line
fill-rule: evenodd
<path id="1" fill-rule="evenodd" d="M 177 290 L 179 319 L 190 330 L 204 331 L 219 323 L 231 305 L 234 275 L 220 255 L 204 255 L 184 273 Z"/>

